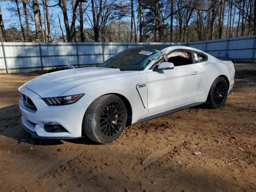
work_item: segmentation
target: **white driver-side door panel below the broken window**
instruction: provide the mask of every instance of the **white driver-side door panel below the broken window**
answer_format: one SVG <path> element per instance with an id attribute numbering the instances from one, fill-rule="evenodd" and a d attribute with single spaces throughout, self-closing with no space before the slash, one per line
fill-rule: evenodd
<path id="1" fill-rule="evenodd" d="M 196 64 L 158 72 L 148 70 L 148 113 L 155 114 L 192 103 L 200 80 L 201 70 Z"/>

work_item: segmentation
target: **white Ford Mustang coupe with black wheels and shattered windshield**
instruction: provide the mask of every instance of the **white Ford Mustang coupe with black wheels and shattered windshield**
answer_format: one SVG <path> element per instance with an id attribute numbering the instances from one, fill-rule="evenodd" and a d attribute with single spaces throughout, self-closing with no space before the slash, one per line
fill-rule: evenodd
<path id="1" fill-rule="evenodd" d="M 186 46 L 152 45 L 115 54 L 98 67 L 44 74 L 20 86 L 21 122 L 38 138 L 85 133 L 107 143 L 130 124 L 207 103 L 224 105 L 234 65 Z"/>

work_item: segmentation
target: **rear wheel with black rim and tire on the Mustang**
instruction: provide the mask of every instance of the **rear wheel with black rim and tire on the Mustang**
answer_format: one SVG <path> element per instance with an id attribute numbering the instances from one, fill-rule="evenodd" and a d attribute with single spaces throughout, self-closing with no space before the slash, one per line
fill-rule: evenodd
<path id="1" fill-rule="evenodd" d="M 218 77 L 213 82 L 206 104 L 211 108 L 220 108 L 224 106 L 228 96 L 228 83 L 223 77 Z"/>

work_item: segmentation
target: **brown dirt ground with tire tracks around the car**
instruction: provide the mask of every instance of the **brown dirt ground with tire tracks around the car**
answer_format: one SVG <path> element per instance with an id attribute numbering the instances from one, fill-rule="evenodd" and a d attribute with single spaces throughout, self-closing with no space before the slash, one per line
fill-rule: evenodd
<path id="1" fill-rule="evenodd" d="M 236 65 L 224 107 L 135 124 L 105 145 L 31 138 L 17 89 L 36 76 L 0 75 L 0 191 L 256 191 L 255 65 Z"/>

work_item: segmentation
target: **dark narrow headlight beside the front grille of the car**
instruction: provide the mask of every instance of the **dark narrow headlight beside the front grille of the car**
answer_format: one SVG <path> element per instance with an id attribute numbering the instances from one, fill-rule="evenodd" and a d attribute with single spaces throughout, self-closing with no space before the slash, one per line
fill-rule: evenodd
<path id="1" fill-rule="evenodd" d="M 77 102 L 84 94 L 42 98 L 47 105 L 66 105 Z"/>

